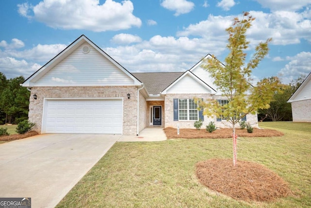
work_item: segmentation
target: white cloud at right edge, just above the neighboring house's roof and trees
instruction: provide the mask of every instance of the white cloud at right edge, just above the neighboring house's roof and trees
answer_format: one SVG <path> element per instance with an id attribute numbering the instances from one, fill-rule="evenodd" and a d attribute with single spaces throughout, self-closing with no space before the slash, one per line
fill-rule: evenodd
<path id="1" fill-rule="evenodd" d="M 301 74 L 308 75 L 311 72 L 311 52 L 301 52 L 294 57 L 286 57 L 291 60 L 278 74 L 283 83 L 290 83 Z"/>

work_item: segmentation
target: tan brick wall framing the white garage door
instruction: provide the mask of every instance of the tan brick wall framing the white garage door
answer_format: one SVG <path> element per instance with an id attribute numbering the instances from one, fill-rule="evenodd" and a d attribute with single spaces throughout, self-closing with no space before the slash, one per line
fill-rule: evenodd
<path id="1" fill-rule="evenodd" d="M 131 98 L 127 98 L 127 94 Z M 37 95 L 37 99 L 33 95 Z M 33 130 L 41 132 L 44 98 L 123 98 L 124 135 L 137 134 L 137 87 L 105 86 L 105 87 L 33 87 L 29 104 L 29 120 L 36 125 Z M 143 102 L 142 102 L 143 103 Z M 143 108 L 143 107 L 142 107 Z"/>

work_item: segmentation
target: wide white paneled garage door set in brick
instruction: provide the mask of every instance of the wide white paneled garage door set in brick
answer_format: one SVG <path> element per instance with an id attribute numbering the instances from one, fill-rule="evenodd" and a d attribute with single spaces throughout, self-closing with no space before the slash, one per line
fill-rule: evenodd
<path id="1" fill-rule="evenodd" d="M 48 99 L 42 133 L 122 133 L 121 99 Z"/>

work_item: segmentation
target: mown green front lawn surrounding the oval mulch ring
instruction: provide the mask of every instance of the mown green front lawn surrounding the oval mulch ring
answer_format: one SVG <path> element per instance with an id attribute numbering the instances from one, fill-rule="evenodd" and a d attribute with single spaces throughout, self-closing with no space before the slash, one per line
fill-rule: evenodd
<path id="1" fill-rule="evenodd" d="M 231 139 L 175 139 L 116 143 L 71 189 L 58 208 L 293 208 L 311 207 L 311 131 L 294 123 L 260 124 L 284 132 L 282 137 L 238 140 L 238 159 L 275 171 L 294 195 L 273 203 L 246 203 L 210 191 L 195 176 L 195 164 L 231 158 Z M 303 124 L 310 129 L 311 124 Z M 290 129 L 290 130 L 289 130 Z"/>

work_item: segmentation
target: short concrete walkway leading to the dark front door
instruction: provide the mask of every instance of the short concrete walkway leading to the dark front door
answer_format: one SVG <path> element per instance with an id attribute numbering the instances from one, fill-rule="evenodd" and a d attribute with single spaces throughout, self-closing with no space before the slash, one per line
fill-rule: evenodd
<path id="1" fill-rule="evenodd" d="M 156 142 L 164 141 L 167 137 L 161 127 L 148 127 L 139 132 L 138 136 L 122 135 L 118 142 Z"/>

